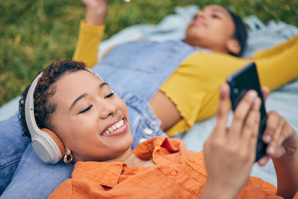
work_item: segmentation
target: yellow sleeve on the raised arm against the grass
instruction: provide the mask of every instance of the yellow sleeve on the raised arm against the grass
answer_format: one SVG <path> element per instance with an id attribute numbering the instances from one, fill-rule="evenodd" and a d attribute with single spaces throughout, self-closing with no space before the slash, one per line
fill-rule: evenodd
<path id="1" fill-rule="evenodd" d="M 82 20 L 73 60 L 85 62 L 89 68 L 93 67 L 97 63 L 98 46 L 104 31 L 105 25 L 89 25 Z"/>

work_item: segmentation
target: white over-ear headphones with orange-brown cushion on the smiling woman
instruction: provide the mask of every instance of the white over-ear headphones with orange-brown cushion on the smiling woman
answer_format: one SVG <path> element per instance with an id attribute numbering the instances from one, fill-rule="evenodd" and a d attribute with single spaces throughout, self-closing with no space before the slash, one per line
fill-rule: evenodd
<path id="1" fill-rule="evenodd" d="M 90 68 L 85 68 L 85 70 L 91 72 L 93 75 L 97 76 L 99 79 L 103 80 L 97 73 L 95 73 Z M 33 94 L 35 91 L 35 87 L 39 78 L 42 76 L 43 72 L 41 72 L 32 82 L 25 101 L 25 118 L 26 123 L 31 135 L 31 144 L 38 155 L 38 157 L 44 162 L 55 164 L 65 154 L 65 148 L 60 140 L 60 138 L 51 130 L 47 128 L 39 129 L 35 117 L 34 117 L 34 98 Z"/>

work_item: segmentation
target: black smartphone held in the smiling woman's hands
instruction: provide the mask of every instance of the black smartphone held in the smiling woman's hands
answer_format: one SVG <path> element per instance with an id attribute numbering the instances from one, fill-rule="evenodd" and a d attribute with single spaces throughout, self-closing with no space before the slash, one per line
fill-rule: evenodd
<path id="1" fill-rule="evenodd" d="M 230 85 L 231 88 L 231 102 L 233 111 L 236 109 L 237 104 L 240 102 L 240 100 L 248 90 L 256 90 L 259 97 L 262 99 L 260 108 L 260 129 L 257 143 L 257 154 L 255 159 L 256 162 L 264 155 L 266 155 L 267 144 L 262 141 L 262 136 L 266 128 L 267 114 L 255 63 L 251 62 L 240 70 L 234 72 L 232 75 L 228 76 L 227 83 Z"/>

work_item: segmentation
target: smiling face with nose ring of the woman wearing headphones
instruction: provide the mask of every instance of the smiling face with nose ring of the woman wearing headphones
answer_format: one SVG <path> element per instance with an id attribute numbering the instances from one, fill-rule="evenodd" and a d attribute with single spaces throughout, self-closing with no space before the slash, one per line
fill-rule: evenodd
<path id="1" fill-rule="evenodd" d="M 50 100 L 57 109 L 51 124 L 74 162 L 111 160 L 129 149 L 133 137 L 127 107 L 108 84 L 79 70 L 66 73 L 54 86 Z"/>

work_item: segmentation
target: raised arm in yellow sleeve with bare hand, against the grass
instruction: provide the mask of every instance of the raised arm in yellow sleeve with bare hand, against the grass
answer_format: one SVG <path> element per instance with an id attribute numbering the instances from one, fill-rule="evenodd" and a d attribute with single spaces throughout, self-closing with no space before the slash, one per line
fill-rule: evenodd
<path id="1" fill-rule="evenodd" d="M 107 0 L 82 0 L 86 7 L 84 21 L 79 28 L 79 37 L 73 60 L 85 62 L 93 67 L 97 62 L 98 46 L 105 30 Z"/>

